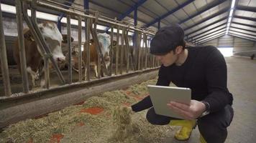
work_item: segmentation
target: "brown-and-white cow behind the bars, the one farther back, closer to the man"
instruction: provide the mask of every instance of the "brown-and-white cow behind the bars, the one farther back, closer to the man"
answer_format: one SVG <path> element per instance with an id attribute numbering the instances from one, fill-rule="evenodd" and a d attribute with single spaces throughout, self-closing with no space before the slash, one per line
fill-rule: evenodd
<path id="1" fill-rule="evenodd" d="M 97 34 L 99 39 L 99 44 L 101 46 L 101 52 L 103 54 L 103 59 L 106 64 L 106 69 L 109 69 L 110 65 L 110 56 L 109 56 L 109 46 L 110 46 L 110 36 L 109 34 Z M 97 71 L 97 64 L 98 64 L 98 53 L 96 50 L 96 43 L 91 39 L 89 41 L 89 48 L 90 48 L 90 66 L 93 67 L 93 71 L 95 73 L 95 77 L 98 77 L 98 71 Z M 84 43 L 83 47 L 86 47 L 86 42 Z M 113 46 L 115 46 L 116 42 L 114 42 Z M 83 50 L 82 52 L 83 56 L 83 62 L 86 63 L 86 50 Z M 85 77 L 86 77 L 86 71 L 85 71 Z"/>

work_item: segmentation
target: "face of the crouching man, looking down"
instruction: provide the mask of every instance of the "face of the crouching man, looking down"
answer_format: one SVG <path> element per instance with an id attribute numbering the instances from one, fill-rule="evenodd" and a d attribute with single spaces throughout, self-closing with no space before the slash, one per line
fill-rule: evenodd
<path id="1" fill-rule="evenodd" d="M 163 64 L 163 66 L 170 66 L 178 59 L 177 54 L 174 51 L 169 51 L 164 55 L 156 55 L 156 58 Z"/>

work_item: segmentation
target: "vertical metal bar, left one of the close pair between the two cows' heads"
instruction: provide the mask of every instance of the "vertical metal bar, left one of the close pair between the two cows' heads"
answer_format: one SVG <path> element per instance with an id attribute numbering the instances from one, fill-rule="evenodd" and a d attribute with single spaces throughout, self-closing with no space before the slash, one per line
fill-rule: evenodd
<path id="1" fill-rule="evenodd" d="M 78 80 L 82 82 L 82 18 L 78 16 Z M 84 66 L 84 68 L 86 68 Z"/>

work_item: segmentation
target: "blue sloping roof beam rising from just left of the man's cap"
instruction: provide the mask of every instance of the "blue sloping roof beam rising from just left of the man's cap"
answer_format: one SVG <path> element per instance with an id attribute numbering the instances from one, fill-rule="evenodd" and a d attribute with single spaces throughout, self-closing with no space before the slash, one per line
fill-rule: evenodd
<path id="1" fill-rule="evenodd" d="M 172 9 L 171 11 L 168 11 L 167 13 L 163 14 L 162 16 L 157 17 L 157 19 L 151 21 L 149 24 L 146 24 L 145 27 L 152 26 L 157 21 L 160 21 L 161 19 L 165 19 L 165 17 L 170 16 L 170 14 L 173 14 L 175 11 L 178 11 L 179 9 L 183 9 L 183 7 L 187 6 L 188 4 L 191 4 L 191 2 L 193 2 L 193 1 L 195 1 L 195 0 L 188 0 L 188 1 L 184 2 L 183 4 L 176 7 L 175 9 Z"/>

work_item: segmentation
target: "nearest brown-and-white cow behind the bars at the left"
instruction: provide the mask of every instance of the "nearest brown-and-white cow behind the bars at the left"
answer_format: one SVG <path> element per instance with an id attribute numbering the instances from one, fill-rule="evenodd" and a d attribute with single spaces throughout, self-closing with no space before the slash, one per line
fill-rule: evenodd
<path id="1" fill-rule="evenodd" d="M 38 24 L 38 27 L 42 33 L 42 37 L 45 39 L 45 42 L 52 53 L 53 59 L 57 62 L 58 65 L 65 62 L 65 56 L 63 55 L 63 51 L 61 49 L 63 36 L 62 34 L 60 34 L 57 25 L 53 22 L 45 21 L 42 24 Z M 42 63 L 43 52 L 40 50 L 39 46 L 35 42 L 35 39 L 32 36 L 30 29 L 24 28 L 23 33 L 27 64 L 26 70 L 31 75 L 32 87 L 35 87 L 35 80 L 39 79 L 39 69 L 40 64 Z M 21 73 L 18 39 L 14 41 L 14 60 L 17 62 L 17 68 Z M 45 81 L 41 80 L 40 85 L 41 87 L 44 87 Z"/>

